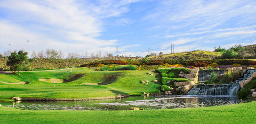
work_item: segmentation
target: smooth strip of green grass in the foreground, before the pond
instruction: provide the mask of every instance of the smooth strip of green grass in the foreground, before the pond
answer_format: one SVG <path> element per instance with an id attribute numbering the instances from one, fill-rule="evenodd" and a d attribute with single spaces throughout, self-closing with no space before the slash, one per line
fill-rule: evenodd
<path id="1" fill-rule="evenodd" d="M 256 102 L 144 111 L 50 111 L 0 107 L 0 123 L 256 123 Z"/>

